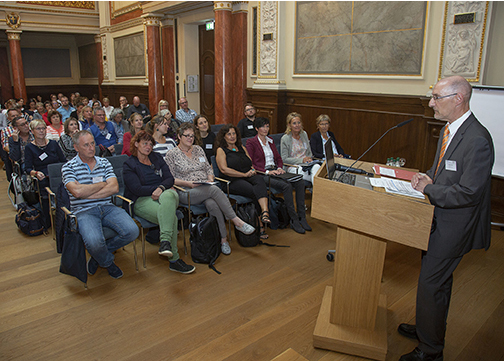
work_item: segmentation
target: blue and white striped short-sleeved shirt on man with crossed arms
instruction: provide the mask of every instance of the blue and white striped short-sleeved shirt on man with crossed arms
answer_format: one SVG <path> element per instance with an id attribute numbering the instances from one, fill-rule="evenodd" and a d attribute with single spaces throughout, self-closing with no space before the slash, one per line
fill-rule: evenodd
<path id="1" fill-rule="evenodd" d="M 109 178 L 117 178 L 114 173 L 114 168 L 106 158 L 95 157 L 95 160 L 96 164 L 92 171 L 89 169 L 89 166 L 80 159 L 79 155 L 69 160 L 63 168 L 61 168 L 65 186 L 75 181 L 80 184 L 93 184 L 97 182 L 106 182 Z M 74 214 L 92 207 L 111 204 L 110 197 L 89 199 L 75 198 L 70 192 L 68 192 L 68 194 L 70 196 L 70 206 Z"/>

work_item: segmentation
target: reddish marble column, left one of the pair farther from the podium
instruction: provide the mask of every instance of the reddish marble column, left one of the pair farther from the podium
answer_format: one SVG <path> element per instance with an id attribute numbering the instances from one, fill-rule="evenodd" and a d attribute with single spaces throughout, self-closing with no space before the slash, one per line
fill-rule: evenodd
<path id="1" fill-rule="evenodd" d="M 147 68 L 149 80 L 149 110 L 157 113 L 157 105 L 163 98 L 163 79 L 161 72 L 161 43 L 159 26 L 161 15 L 144 14 L 145 31 L 147 36 Z"/>

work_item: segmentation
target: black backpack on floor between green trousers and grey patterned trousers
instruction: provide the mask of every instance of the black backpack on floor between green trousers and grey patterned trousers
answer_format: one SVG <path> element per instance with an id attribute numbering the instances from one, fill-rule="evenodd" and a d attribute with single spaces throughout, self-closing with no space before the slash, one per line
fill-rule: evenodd
<path id="1" fill-rule="evenodd" d="M 219 226 L 214 216 L 199 216 L 189 225 L 191 234 L 191 258 L 195 263 L 207 263 L 208 267 L 220 274 L 214 264 L 221 252 Z"/>

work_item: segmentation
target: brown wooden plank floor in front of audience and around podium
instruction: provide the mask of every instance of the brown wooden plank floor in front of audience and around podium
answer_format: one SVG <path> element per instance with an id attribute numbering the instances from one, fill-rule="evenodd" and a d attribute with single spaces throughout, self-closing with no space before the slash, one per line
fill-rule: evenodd
<path id="1" fill-rule="evenodd" d="M 3 172 L 2 172 L 3 173 Z M 58 272 L 50 236 L 21 234 L 0 180 L 0 360 L 254 360 L 288 348 L 310 361 L 362 360 L 313 348 L 312 333 L 333 264 L 334 227 L 270 231 L 290 248 L 240 248 L 221 255 L 217 275 L 168 270 L 147 245 L 147 269 L 136 272 L 132 246 L 118 251 L 120 280 L 100 269 L 81 282 Z M 363 220 L 365 221 L 365 220 Z M 504 360 L 504 232 L 488 252 L 466 255 L 455 273 L 445 360 Z M 182 237 L 179 236 L 182 247 Z M 187 262 L 190 257 L 185 256 Z M 382 292 L 388 300 L 387 360 L 416 343 L 396 332 L 414 320 L 420 252 L 389 244 Z"/>

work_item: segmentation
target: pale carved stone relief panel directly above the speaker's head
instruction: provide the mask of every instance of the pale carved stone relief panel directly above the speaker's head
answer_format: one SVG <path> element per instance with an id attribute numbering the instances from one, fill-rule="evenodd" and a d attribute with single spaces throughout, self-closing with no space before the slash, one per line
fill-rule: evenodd
<path id="1" fill-rule="evenodd" d="M 461 75 L 469 81 L 479 81 L 487 9 L 487 2 L 447 2 L 440 78 Z M 463 13 L 476 13 L 474 23 L 454 24 L 455 14 Z"/>

